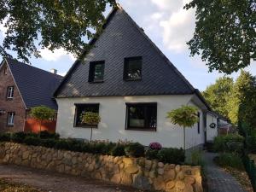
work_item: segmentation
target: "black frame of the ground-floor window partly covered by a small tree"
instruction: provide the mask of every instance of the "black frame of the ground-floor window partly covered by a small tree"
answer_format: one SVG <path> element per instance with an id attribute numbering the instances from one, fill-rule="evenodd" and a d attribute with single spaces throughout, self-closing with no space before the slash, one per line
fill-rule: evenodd
<path id="1" fill-rule="evenodd" d="M 79 107 L 82 106 L 88 106 L 88 107 L 93 107 L 95 106 L 97 108 L 98 113 L 100 113 L 100 103 L 75 103 L 75 114 L 74 114 L 74 119 L 73 119 L 73 127 L 74 128 L 98 128 L 98 125 L 86 125 L 86 124 L 78 124 L 78 112 L 79 112 Z"/>

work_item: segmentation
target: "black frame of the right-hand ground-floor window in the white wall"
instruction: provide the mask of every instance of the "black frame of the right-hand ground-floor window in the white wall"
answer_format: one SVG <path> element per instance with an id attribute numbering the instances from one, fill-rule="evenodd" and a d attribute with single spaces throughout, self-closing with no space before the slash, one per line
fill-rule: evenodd
<path id="1" fill-rule="evenodd" d="M 125 114 L 125 130 L 130 131 L 157 131 L 157 102 L 126 102 L 126 114 Z M 130 126 L 129 110 L 131 107 L 144 107 L 144 113 L 147 113 L 147 107 L 155 108 L 155 127 L 149 127 L 149 121 L 146 117 L 143 127 Z"/>

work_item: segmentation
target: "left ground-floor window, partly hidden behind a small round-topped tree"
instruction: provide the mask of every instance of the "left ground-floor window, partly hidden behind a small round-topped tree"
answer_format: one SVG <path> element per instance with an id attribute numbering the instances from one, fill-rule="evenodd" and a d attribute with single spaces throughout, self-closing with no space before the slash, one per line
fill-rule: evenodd
<path id="1" fill-rule="evenodd" d="M 99 103 L 79 103 L 75 104 L 76 112 L 74 117 L 74 127 L 97 127 L 97 125 L 88 125 L 83 123 L 82 116 L 86 112 L 99 113 Z"/>

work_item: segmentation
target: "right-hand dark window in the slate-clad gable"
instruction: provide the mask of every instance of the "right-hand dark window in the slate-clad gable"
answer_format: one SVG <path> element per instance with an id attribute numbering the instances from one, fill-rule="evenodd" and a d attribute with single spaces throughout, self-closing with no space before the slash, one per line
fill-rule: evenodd
<path id="1" fill-rule="evenodd" d="M 141 56 L 125 58 L 124 79 L 142 79 L 143 58 Z"/>

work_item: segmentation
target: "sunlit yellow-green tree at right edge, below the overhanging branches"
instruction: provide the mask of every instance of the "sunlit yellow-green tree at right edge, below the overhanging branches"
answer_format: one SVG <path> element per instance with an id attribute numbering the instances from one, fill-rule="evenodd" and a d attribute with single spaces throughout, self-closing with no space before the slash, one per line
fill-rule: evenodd
<path id="1" fill-rule="evenodd" d="M 241 71 L 234 84 L 228 106 L 232 123 L 237 124 L 241 121 L 256 129 L 256 79 L 251 73 Z"/>

